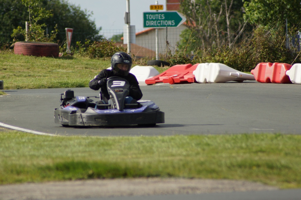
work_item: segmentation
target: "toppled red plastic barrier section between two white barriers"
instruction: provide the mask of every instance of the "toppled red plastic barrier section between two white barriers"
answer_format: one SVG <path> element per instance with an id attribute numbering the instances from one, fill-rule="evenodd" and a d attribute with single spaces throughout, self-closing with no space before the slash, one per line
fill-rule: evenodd
<path id="1" fill-rule="evenodd" d="M 196 82 L 193 71 L 197 68 L 197 65 L 198 64 L 177 64 L 157 76 L 146 79 L 145 83 L 151 85 L 158 82 L 169 84 L 180 82 Z"/>

